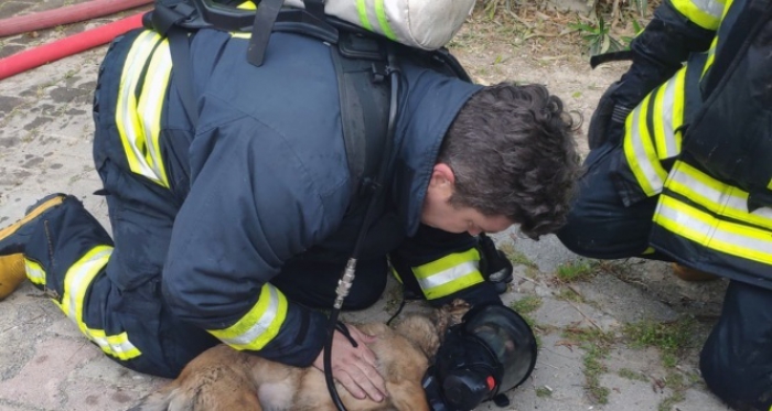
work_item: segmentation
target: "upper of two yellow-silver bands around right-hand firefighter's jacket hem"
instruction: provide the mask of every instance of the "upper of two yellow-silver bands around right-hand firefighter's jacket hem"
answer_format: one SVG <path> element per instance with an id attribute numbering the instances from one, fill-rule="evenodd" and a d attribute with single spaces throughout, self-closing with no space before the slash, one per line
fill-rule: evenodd
<path id="1" fill-rule="evenodd" d="M 683 161 L 675 163 L 665 186 L 718 216 L 772 230 L 772 208 L 749 212 L 748 192 L 716 180 Z"/>

